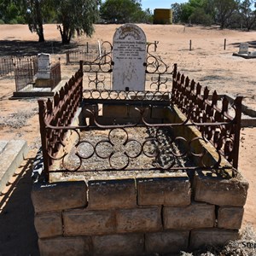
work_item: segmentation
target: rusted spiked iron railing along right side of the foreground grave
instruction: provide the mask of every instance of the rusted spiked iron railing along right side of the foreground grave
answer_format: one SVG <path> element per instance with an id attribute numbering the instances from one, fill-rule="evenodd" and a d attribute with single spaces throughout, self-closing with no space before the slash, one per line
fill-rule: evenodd
<path id="1" fill-rule="evenodd" d="M 237 168 L 239 141 L 241 130 L 241 96 L 230 106 L 224 96 L 218 104 L 216 90 L 210 99 L 207 87 L 202 92 L 201 84 L 190 81 L 183 74 L 173 76 L 172 104 L 191 120 L 201 131 L 202 137 L 212 142 L 212 145 Z M 229 108 L 233 108 L 234 116 L 231 117 Z M 212 125 L 209 125 L 212 124 Z"/>

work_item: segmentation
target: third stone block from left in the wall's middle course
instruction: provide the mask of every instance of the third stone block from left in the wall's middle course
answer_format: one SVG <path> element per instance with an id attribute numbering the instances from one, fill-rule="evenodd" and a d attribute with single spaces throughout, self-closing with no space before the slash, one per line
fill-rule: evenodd
<path id="1" fill-rule="evenodd" d="M 119 209 L 116 212 L 117 232 L 154 232 L 162 230 L 161 208 Z"/>

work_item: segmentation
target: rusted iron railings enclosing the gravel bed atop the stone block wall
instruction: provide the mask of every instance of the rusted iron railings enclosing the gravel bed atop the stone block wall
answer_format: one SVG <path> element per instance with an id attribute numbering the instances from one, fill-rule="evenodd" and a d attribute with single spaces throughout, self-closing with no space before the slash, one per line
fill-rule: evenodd
<path id="1" fill-rule="evenodd" d="M 229 102 L 224 99 L 219 109 L 216 92 L 210 101 L 207 89 L 204 96 L 201 96 L 200 85 L 195 87 L 194 82 L 189 83 L 189 79 L 184 79 L 179 73 L 173 73 L 172 94 L 160 91 L 83 91 L 82 82 L 83 73 L 79 70 L 60 94 L 55 94 L 54 100 L 38 102 L 46 180 L 50 172 L 131 170 L 231 170 L 231 175 L 236 176 L 234 167 L 237 167 L 238 161 L 241 97 L 236 98 L 234 106 L 229 106 Z M 81 112 L 84 123 L 71 126 L 79 105 L 83 106 Z M 99 106 L 102 106 L 102 113 Z M 186 116 L 182 121 L 165 118 L 166 114 L 173 115 L 175 106 Z M 235 118 L 227 114 L 228 107 L 235 109 Z M 112 118 L 111 108 L 114 109 Z M 125 117 L 127 119 L 124 122 Z M 197 127 L 201 136 L 180 135 L 179 131 L 186 127 Z M 141 132 L 136 129 L 144 129 L 148 137 L 143 140 L 135 138 L 132 133 Z M 97 130 L 101 131 L 102 136 L 105 133 L 105 137 L 101 137 L 98 142 L 90 140 L 92 135 L 81 135 L 81 132 L 86 134 Z M 67 146 L 68 134 L 77 137 L 72 149 Z M 210 153 L 205 148 L 200 152 L 195 149 L 198 144 L 207 145 L 209 141 L 212 141 L 216 155 L 213 163 L 206 160 Z M 133 166 L 134 161 L 142 156 L 154 160 L 154 164 Z M 193 157 L 196 161 L 190 162 L 190 166 L 179 166 L 184 156 Z M 94 157 L 107 160 L 102 170 L 94 169 L 90 164 L 90 159 Z M 231 165 L 223 164 L 224 159 L 229 160 Z M 56 162 L 60 163 L 57 165 L 59 167 L 55 167 Z"/>

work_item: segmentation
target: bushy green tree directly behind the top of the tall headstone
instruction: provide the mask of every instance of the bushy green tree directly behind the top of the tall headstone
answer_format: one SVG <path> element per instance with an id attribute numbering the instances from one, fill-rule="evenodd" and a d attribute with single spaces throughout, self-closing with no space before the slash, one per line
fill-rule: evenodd
<path id="1" fill-rule="evenodd" d="M 128 23 L 139 20 L 139 12 L 142 11 L 141 1 L 137 0 L 106 0 L 100 8 L 103 20 L 110 23 Z"/>

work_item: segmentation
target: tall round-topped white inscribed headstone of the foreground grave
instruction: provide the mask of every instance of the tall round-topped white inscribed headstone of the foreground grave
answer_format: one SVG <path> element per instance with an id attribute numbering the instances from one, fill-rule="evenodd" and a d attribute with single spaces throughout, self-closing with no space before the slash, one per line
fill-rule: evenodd
<path id="1" fill-rule="evenodd" d="M 145 90 L 146 36 L 134 24 L 120 26 L 113 35 L 113 90 Z"/>

